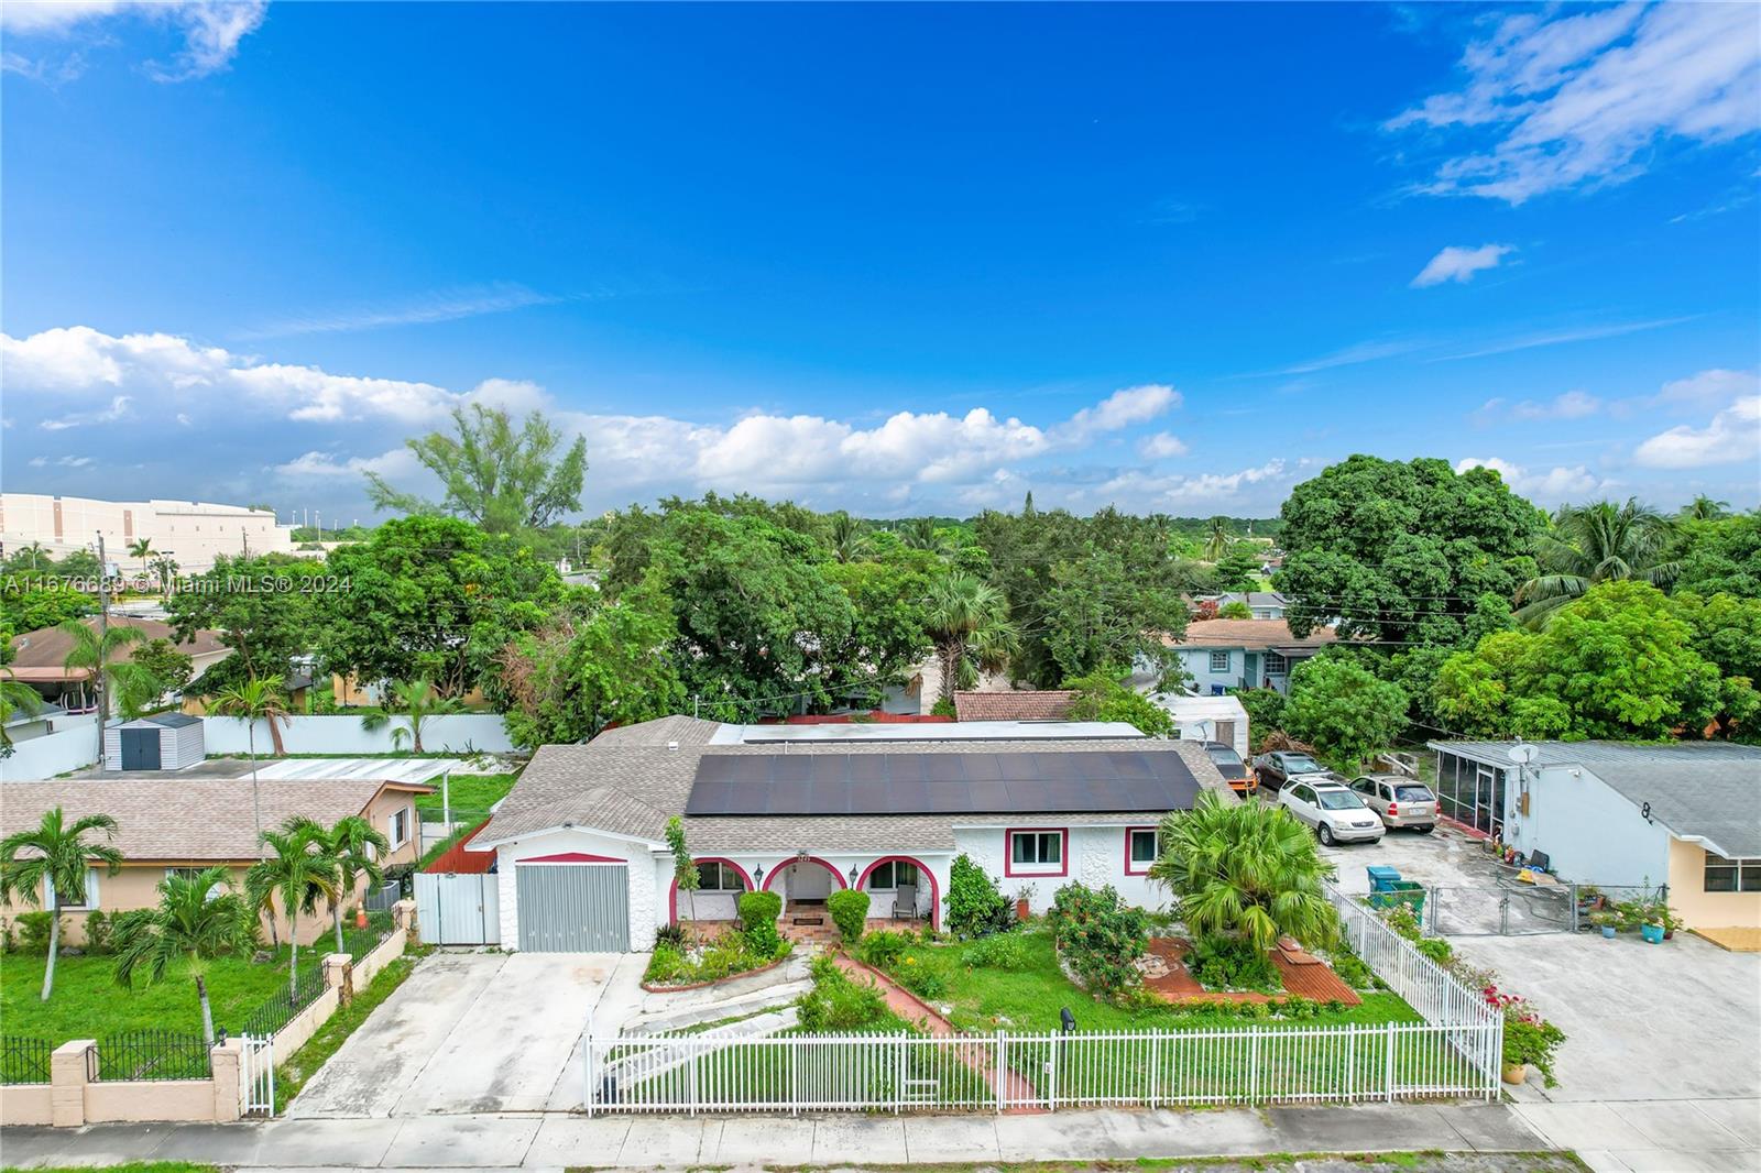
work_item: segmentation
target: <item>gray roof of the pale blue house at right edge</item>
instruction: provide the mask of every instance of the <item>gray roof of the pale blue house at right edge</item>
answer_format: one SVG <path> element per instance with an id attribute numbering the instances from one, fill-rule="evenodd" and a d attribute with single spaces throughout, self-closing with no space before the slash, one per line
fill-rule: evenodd
<path id="1" fill-rule="evenodd" d="M 1514 768 L 1514 741 L 1432 741 L 1432 749 Z M 1761 858 L 1761 747 L 1729 741 L 1537 741 L 1544 766 L 1583 766 L 1682 837 L 1728 859 Z"/>

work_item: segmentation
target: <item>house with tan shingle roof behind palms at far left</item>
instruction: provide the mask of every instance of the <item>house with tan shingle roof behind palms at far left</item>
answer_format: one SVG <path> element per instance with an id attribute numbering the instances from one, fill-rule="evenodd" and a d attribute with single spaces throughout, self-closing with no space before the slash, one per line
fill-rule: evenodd
<path id="1" fill-rule="evenodd" d="M 431 786 L 380 780 L 262 780 L 262 826 L 276 828 L 289 815 L 306 815 L 335 824 L 347 815 L 365 815 L 389 842 L 384 863 L 416 859 L 416 794 Z M 158 884 L 180 870 L 225 867 L 243 888 L 245 868 L 257 859 L 257 831 L 252 814 L 250 778 L 166 778 L 102 782 L 69 778 L 62 782 L 9 782 L 0 808 L 0 837 L 25 831 L 55 807 L 67 821 L 88 814 L 116 819 L 113 845 L 123 852 L 122 870 L 104 868 L 86 874 L 86 900 L 77 909 L 63 905 L 69 944 L 85 941 L 86 914 L 102 909 L 106 916 L 146 909 L 158 904 Z M 365 881 L 361 886 L 365 891 Z M 0 905 L 7 919 L 39 905 Z M 287 941 L 287 918 L 278 914 L 276 933 Z M 329 909 L 299 918 L 301 944 L 329 930 Z"/>

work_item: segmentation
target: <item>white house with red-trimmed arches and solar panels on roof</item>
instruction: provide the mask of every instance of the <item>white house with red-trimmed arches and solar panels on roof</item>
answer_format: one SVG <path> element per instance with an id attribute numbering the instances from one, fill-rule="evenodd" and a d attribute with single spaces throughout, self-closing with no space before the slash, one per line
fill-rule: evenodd
<path id="1" fill-rule="evenodd" d="M 1229 794 L 1199 747 L 1122 724 L 664 717 L 542 747 L 468 849 L 497 854 L 502 948 L 648 949 L 662 925 L 733 919 L 750 889 L 784 898 L 785 932 L 844 888 L 872 918 L 939 925 L 962 852 L 1039 911 L 1069 881 L 1157 907 L 1157 823 L 1201 791 Z M 673 815 L 703 881 L 689 900 Z"/>

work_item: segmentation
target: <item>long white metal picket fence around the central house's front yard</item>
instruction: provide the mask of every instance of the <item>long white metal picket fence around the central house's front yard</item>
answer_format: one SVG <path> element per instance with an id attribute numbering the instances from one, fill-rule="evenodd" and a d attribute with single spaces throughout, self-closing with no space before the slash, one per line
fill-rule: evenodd
<path id="1" fill-rule="evenodd" d="M 1425 1022 L 1201 1030 L 593 1037 L 602 1111 L 1018 1111 L 1495 1099 L 1504 1018 L 1344 893 L 1345 939 Z"/>

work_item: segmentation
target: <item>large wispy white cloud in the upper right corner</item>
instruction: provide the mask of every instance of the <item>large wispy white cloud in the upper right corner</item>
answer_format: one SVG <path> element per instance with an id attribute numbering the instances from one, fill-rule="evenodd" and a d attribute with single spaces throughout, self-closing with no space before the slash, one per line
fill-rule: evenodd
<path id="1" fill-rule="evenodd" d="M 1564 12 L 1564 14 L 1560 14 Z M 1669 137 L 1731 141 L 1761 129 L 1761 9 L 1622 4 L 1504 18 L 1462 55 L 1465 85 L 1386 123 L 1492 130 L 1425 190 L 1522 204 L 1645 171 Z"/>

